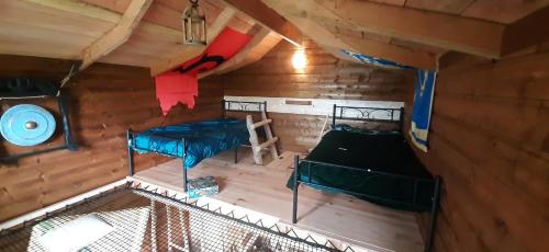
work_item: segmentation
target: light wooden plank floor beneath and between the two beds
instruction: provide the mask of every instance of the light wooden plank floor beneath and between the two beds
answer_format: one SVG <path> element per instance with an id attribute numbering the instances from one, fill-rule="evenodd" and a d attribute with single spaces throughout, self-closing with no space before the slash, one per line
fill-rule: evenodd
<path id="1" fill-rule="evenodd" d="M 285 187 L 294 153 L 256 165 L 249 149 L 237 164 L 233 152 L 203 160 L 190 177 L 213 175 L 225 203 L 268 214 L 291 224 L 292 192 Z M 246 154 L 244 154 L 246 153 Z M 182 192 L 181 160 L 135 174 L 135 179 Z M 341 194 L 300 187 L 298 227 L 377 251 L 422 251 L 423 239 L 413 213 L 392 210 Z"/>

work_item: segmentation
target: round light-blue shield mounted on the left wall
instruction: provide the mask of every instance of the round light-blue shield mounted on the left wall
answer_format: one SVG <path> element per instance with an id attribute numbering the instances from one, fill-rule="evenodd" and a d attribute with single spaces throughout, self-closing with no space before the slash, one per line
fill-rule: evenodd
<path id="1" fill-rule="evenodd" d="M 32 104 L 10 107 L 0 118 L 0 133 L 16 146 L 35 146 L 55 133 L 55 118 L 48 111 Z"/>

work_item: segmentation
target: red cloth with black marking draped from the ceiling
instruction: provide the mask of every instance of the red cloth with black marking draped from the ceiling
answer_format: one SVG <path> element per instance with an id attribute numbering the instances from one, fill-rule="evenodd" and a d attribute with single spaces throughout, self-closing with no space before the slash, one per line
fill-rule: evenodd
<path id="1" fill-rule="evenodd" d="M 219 62 L 228 60 L 250 39 L 250 35 L 225 27 L 202 55 L 181 64 L 176 70 L 157 76 L 156 98 L 160 102 L 163 114 L 166 116 L 178 103 L 187 104 L 192 110 L 194 98 L 199 95 L 199 72 L 212 70 Z"/>

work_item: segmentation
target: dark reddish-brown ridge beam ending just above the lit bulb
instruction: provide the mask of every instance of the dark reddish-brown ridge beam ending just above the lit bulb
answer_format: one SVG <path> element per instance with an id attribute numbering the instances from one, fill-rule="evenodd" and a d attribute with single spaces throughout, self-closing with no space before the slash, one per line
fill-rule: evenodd
<path id="1" fill-rule="evenodd" d="M 227 5 L 256 20 L 261 25 L 272 30 L 285 41 L 295 46 L 301 46 L 302 34 L 295 25 L 288 22 L 274 10 L 267 7 L 261 1 L 249 0 L 223 0 Z"/>

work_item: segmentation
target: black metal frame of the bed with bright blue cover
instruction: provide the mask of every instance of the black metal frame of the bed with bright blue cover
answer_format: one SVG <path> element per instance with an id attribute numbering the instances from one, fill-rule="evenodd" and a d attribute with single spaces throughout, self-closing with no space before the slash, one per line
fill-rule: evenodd
<path id="1" fill-rule="evenodd" d="M 261 112 L 267 112 L 267 102 L 239 102 L 239 101 L 225 101 L 223 100 L 222 101 L 222 115 L 223 117 L 226 117 L 226 113 L 227 112 L 243 112 L 243 113 L 261 113 Z M 127 162 L 128 162 L 128 169 L 130 169 L 130 175 L 134 175 L 135 174 L 135 169 L 134 169 L 134 157 L 133 157 L 133 153 L 134 151 L 147 151 L 147 152 L 150 152 L 150 150 L 143 150 L 143 149 L 139 149 L 135 146 L 135 141 L 134 141 L 134 135 L 135 133 L 132 131 L 132 129 L 127 129 L 126 130 L 126 141 L 127 141 Z M 181 159 L 181 162 L 182 162 L 182 168 L 183 168 L 183 192 L 187 192 L 188 191 L 188 182 L 189 182 L 189 179 L 188 179 L 188 174 L 187 174 L 187 168 L 184 165 L 184 159 L 186 159 L 186 156 L 187 156 L 187 152 L 186 152 L 186 140 L 184 138 L 181 138 L 181 146 L 182 146 L 182 150 L 183 150 L 183 153 L 182 156 L 183 157 L 178 157 L 178 156 L 173 156 L 173 154 L 166 154 L 166 153 L 158 153 L 158 154 L 163 154 L 163 156 L 166 156 L 166 157 L 170 157 L 170 158 L 175 158 L 175 159 Z M 234 153 L 235 153 L 235 163 L 238 162 L 238 147 L 234 148 Z"/>

